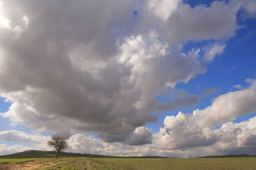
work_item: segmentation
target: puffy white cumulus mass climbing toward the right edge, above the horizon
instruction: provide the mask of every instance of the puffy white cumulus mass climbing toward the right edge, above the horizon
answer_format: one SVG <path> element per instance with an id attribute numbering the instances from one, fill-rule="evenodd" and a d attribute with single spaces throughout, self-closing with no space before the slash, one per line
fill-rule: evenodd
<path id="1" fill-rule="evenodd" d="M 253 80 L 250 87 L 218 96 L 211 106 L 203 110 L 166 116 L 160 132 L 154 134 L 154 142 L 160 148 L 169 150 L 210 146 L 227 149 L 233 142 L 231 148 L 250 146 L 254 137 L 251 134 L 256 130 L 252 124 L 255 118 L 240 124 L 231 121 L 237 116 L 256 112 L 255 96 L 256 81 Z M 218 125 L 222 125 L 221 129 L 212 129 Z M 218 144 L 220 146 L 216 146 Z"/>

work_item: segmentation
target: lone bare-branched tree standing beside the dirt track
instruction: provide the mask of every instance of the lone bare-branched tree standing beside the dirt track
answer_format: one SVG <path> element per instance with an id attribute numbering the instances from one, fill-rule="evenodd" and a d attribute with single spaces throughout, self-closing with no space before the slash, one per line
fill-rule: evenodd
<path id="1" fill-rule="evenodd" d="M 67 140 L 58 134 L 52 135 L 51 139 L 47 141 L 47 145 L 53 147 L 58 152 L 57 159 L 59 154 L 68 147 Z"/>

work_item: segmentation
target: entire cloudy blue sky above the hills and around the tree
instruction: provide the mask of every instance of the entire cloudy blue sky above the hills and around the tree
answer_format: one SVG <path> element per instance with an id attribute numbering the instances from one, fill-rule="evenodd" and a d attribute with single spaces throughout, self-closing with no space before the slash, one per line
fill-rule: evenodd
<path id="1" fill-rule="evenodd" d="M 0 155 L 256 154 L 256 0 L 0 0 Z"/>

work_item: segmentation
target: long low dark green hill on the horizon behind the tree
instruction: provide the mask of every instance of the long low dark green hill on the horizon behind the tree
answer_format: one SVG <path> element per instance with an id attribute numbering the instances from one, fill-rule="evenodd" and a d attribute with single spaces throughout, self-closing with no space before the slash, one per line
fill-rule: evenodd
<path id="1" fill-rule="evenodd" d="M 26 150 L 19 153 L 13 153 L 10 155 L 0 156 L 0 159 L 10 159 L 10 158 L 55 158 L 57 155 L 56 151 L 47 150 Z M 160 156 L 106 156 L 106 155 L 96 155 L 96 154 L 81 154 L 81 153 L 67 153 L 61 152 L 60 157 L 93 157 L 93 158 L 164 158 Z"/>

